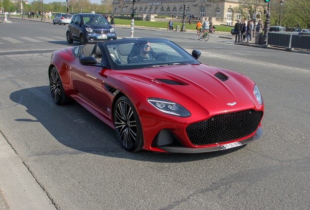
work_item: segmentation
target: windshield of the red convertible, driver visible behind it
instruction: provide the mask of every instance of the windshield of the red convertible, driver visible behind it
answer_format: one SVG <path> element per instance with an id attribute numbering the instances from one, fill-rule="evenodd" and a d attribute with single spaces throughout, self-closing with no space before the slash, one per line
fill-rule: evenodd
<path id="1" fill-rule="evenodd" d="M 114 70 L 130 70 L 168 65 L 199 64 L 189 53 L 166 39 L 137 38 L 105 44 Z"/>

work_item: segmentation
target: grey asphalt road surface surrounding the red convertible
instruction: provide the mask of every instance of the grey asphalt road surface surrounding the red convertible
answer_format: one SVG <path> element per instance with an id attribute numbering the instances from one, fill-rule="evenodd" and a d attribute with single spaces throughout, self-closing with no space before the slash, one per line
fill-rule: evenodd
<path id="1" fill-rule="evenodd" d="M 67 26 L 11 21 L 0 25 L 0 132 L 56 208 L 310 209 L 309 54 L 234 45 L 216 32 L 205 42 L 194 32 L 135 30 L 247 75 L 260 88 L 265 114 L 262 137 L 244 147 L 128 153 L 81 105 L 51 99 L 51 52 L 79 44 L 66 43 Z M 116 26 L 116 33 L 130 36 L 130 29 Z"/>

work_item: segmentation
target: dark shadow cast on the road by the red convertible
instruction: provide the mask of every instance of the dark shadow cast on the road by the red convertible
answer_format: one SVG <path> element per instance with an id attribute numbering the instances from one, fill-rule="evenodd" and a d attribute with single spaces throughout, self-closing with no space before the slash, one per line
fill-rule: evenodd
<path id="1" fill-rule="evenodd" d="M 11 93 L 10 99 L 16 102 L 17 105 L 25 106 L 27 108 L 26 112 L 37 119 L 15 119 L 15 121 L 41 123 L 58 142 L 67 147 L 65 149 L 32 153 L 29 154 L 30 157 L 91 153 L 138 161 L 189 162 L 223 156 L 244 147 L 199 154 L 167 154 L 149 151 L 130 153 L 125 151 L 120 145 L 113 128 L 100 121 L 77 102 L 73 102 L 70 105 L 56 105 L 51 98 L 48 86 L 15 91 Z M 28 139 L 27 141 L 34 140 Z M 50 139 L 50 141 L 54 140 Z M 44 141 L 41 143 L 44 143 Z M 57 142 L 55 144 L 57 145 Z M 59 145 L 56 148 L 59 148 Z M 36 151 L 35 148 L 31 150 Z"/>

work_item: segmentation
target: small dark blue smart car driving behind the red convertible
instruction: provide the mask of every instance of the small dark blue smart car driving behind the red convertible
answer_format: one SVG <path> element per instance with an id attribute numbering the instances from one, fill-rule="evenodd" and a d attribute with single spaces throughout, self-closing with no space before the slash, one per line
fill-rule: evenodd
<path id="1" fill-rule="evenodd" d="M 112 25 L 101 15 L 81 13 L 73 16 L 66 33 L 67 42 L 82 45 L 116 39 Z"/>

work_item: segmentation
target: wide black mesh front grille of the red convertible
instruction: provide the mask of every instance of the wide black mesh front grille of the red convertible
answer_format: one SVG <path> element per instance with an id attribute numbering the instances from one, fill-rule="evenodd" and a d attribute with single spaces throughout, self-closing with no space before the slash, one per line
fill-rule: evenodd
<path id="1" fill-rule="evenodd" d="M 215 115 L 208 120 L 188 125 L 186 133 L 194 145 L 236 140 L 252 134 L 262 116 L 262 111 L 252 109 Z"/>

